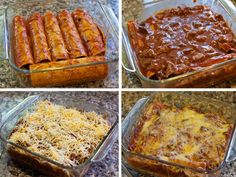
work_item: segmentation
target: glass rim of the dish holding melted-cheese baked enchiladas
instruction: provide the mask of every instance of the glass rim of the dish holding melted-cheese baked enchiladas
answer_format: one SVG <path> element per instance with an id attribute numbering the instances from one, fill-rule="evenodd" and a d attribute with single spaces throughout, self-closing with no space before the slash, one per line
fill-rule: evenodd
<path id="1" fill-rule="evenodd" d="M 216 100 L 216 99 L 213 99 L 213 98 L 207 98 L 205 96 L 197 96 L 197 95 L 187 95 L 186 93 L 183 93 L 183 92 L 154 92 L 152 93 L 150 96 L 148 97 L 143 97 L 139 100 L 137 100 L 136 103 L 138 103 L 138 101 L 142 100 L 142 99 L 145 99 L 145 103 L 142 104 L 141 108 L 139 110 L 137 110 L 135 113 L 137 114 L 142 114 L 143 113 L 143 110 L 145 109 L 145 107 L 153 101 L 153 99 L 155 98 L 155 95 L 160 95 L 160 94 L 171 94 L 171 95 L 181 95 L 181 96 L 188 96 L 188 97 L 191 97 L 191 98 L 194 98 L 194 99 L 198 99 L 198 100 L 204 100 L 204 101 L 213 101 L 214 103 L 220 103 L 222 105 L 225 105 L 225 106 L 228 106 L 228 107 L 231 107 L 233 108 L 234 107 L 234 110 L 236 108 L 236 105 L 235 104 L 230 104 L 228 102 L 225 102 L 225 101 L 219 101 L 219 100 Z M 133 109 L 133 107 L 130 109 L 130 112 L 131 110 Z M 230 137 L 228 139 L 228 143 L 227 143 L 227 148 L 225 150 L 225 153 L 224 153 L 224 159 L 222 160 L 222 162 L 220 163 L 220 165 L 213 169 L 213 170 L 201 170 L 201 169 L 197 169 L 197 168 L 194 168 L 194 167 L 189 167 L 189 166 L 185 166 L 185 165 L 181 165 L 181 164 L 178 164 L 178 163 L 174 163 L 174 162 L 168 162 L 168 161 L 165 161 L 165 160 L 161 160 L 161 159 L 158 159 L 157 157 L 154 157 L 154 156 L 148 156 L 148 155 L 143 155 L 143 154 L 137 154 L 137 153 L 134 153 L 134 152 L 131 152 L 128 148 L 127 148 L 127 143 L 124 142 L 124 138 L 125 136 L 129 136 L 129 135 L 126 135 L 127 133 L 124 133 L 123 134 L 123 122 L 125 120 L 128 119 L 128 115 L 129 113 L 127 113 L 126 117 L 124 118 L 124 120 L 122 121 L 122 127 L 121 127 L 121 132 L 122 132 L 122 137 L 121 137 L 121 148 L 122 148 L 122 152 L 126 153 L 126 154 L 130 154 L 130 155 L 133 155 L 133 156 L 136 156 L 136 157 L 139 157 L 139 158 L 143 158 L 143 159 L 147 159 L 147 160 L 154 160 L 156 162 L 159 162 L 161 164 L 164 164 L 164 165 L 169 165 L 169 166 L 173 166 L 173 167 L 180 167 L 181 169 L 189 169 L 189 170 L 192 170 L 192 171 L 195 171 L 195 172 L 198 172 L 198 173 L 205 173 L 205 174 L 212 174 L 212 173 L 215 173 L 217 172 L 218 170 L 222 169 L 225 164 L 227 163 L 227 157 L 228 157 L 228 153 L 230 151 L 230 146 L 233 142 L 233 139 L 236 138 L 234 137 L 234 134 L 236 132 L 236 116 L 234 118 L 234 122 L 233 122 L 233 130 L 230 134 Z M 129 118 L 130 119 L 130 118 Z M 138 119 L 138 116 L 135 116 L 135 120 Z M 127 120 L 128 121 L 128 120 Z M 135 123 L 132 122 L 133 125 L 135 126 Z M 128 125 L 129 126 L 129 125 Z M 131 127 L 128 127 L 128 130 L 130 130 Z M 127 130 L 127 132 L 128 132 Z M 131 131 L 132 133 L 132 131 Z"/>

